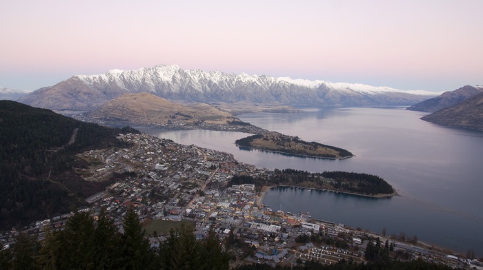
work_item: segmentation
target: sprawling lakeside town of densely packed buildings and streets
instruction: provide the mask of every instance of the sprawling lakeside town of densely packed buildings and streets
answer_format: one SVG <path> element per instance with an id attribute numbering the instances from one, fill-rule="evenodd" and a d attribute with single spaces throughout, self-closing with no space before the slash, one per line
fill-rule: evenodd
<path id="1" fill-rule="evenodd" d="M 204 238 L 214 227 L 221 240 L 237 238 L 248 249 L 235 252 L 233 263 L 265 263 L 292 266 L 307 260 L 322 264 L 364 262 L 366 250 L 385 245 L 400 260 L 422 258 L 451 267 L 483 269 L 477 260 L 424 245 L 404 236 L 377 235 L 334 222 L 317 220 L 310 213 L 284 213 L 262 204 L 266 187 L 235 185 L 235 176 L 270 177 L 273 171 L 239 163 L 232 154 L 179 145 L 147 134 L 119 134 L 132 147 L 91 150 L 78 154 L 88 168 L 77 169 L 85 180 L 112 184 L 90 196 L 88 211 L 97 216 L 105 209 L 122 228 L 128 207 L 133 207 L 156 247 L 166 239 L 159 228 L 163 222 L 189 222 L 197 238 Z M 289 187 L 287 187 L 289 188 Z M 293 188 L 293 187 L 291 187 Z M 71 214 L 39 220 L 23 228 L 43 239 L 46 227 L 61 229 Z M 14 244 L 19 231 L 1 236 L 3 249 Z M 385 243 L 385 244 L 384 244 Z"/>

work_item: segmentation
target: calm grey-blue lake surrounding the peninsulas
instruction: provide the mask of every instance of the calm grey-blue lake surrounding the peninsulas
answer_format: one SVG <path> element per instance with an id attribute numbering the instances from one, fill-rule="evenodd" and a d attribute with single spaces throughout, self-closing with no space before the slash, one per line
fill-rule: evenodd
<path id="1" fill-rule="evenodd" d="M 342 147 L 346 160 L 299 158 L 240 150 L 249 134 L 191 130 L 141 131 L 176 143 L 229 152 L 244 163 L 268 169 L 364 172 L 381 176 L 399 197 L 373 199 L 303 189 L 271 189 L 263 203 L 272 209 L 434 243 L 483 256 L 483 132 L 441 127 L 420 120 L 425 113 L 402 107 L 304 110 L 297 114 L 243 114 L 258 127 Z"/>

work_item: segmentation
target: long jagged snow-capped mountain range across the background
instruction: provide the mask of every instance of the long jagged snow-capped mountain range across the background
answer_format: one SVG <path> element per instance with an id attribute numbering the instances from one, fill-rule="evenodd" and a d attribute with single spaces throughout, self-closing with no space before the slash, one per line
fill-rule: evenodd
<path id="1" fill-rule="evenodd" d="M 139 70 L 72 76 L 52 87 L 26 94 L 19 101 L 59 112 L 90 112 L 122 94 L 139 92 L 171 101 L 248 101 L 291 106 L 411 105 L 436 96 L 433 92 L 390 87 L 182 70 L 177 65 L 157 65 Z"/>

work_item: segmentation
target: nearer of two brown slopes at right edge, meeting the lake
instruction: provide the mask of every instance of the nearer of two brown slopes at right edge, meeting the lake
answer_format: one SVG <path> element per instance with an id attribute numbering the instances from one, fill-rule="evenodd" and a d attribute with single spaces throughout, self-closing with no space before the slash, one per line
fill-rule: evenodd
<path id="1" fill-rule="evenodd" d="M 421 119 L 449 127 L 483 130 L 483 93 Z"/>

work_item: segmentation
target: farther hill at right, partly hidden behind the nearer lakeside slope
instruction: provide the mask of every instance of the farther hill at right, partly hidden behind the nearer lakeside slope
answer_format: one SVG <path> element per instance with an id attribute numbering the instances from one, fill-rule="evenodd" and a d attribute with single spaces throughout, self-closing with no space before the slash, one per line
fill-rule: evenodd
<path id="1" fill-rule="evenodd" d="M 451 92 L 444 92 L 440 96 L 430 98 L 426 101 L 417 103 L 406 110 L 420 111 L 420 112 L 436 112 L 446 107 L 453 106 L 457 103 L 464 101 L 467 98 L 471 98 L 483 92 L 482 85 L 465 85 L 457 90 Z"/>

